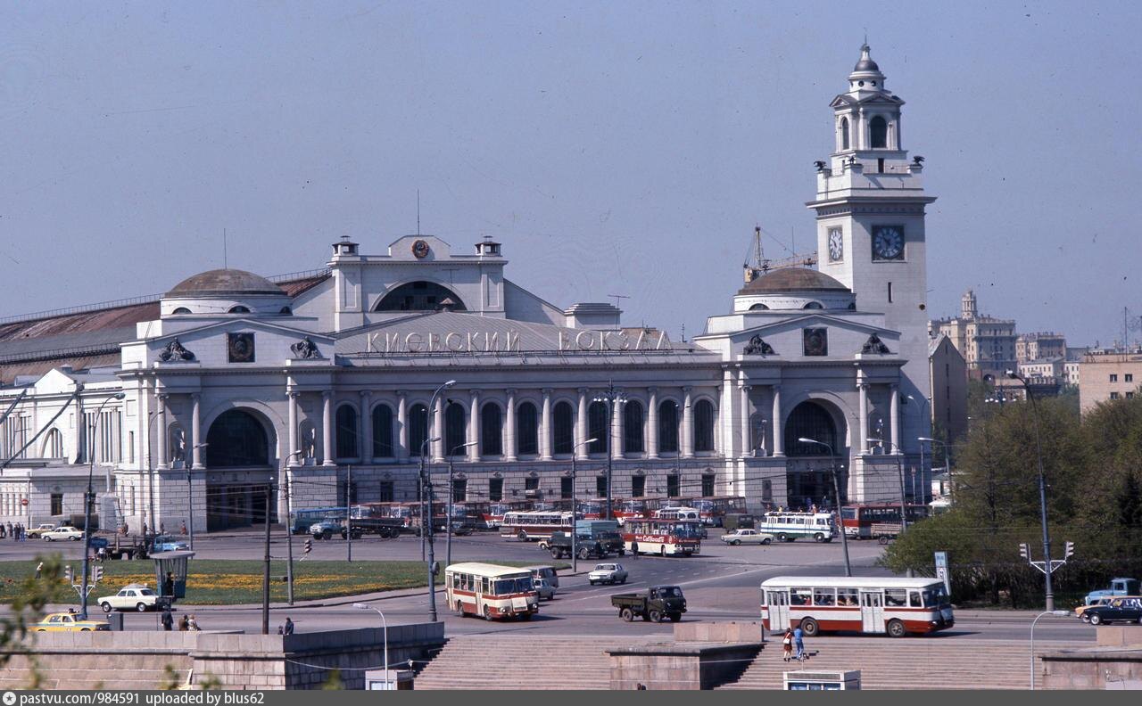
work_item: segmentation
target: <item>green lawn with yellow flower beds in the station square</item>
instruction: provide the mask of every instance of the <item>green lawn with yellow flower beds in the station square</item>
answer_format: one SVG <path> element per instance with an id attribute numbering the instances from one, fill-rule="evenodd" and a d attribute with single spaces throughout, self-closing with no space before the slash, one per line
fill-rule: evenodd
<path id="1" fill-rule="evenodd" d="M 19 590 L 21 582 L 35 574 L 38 561 L 0 561 L 0 603 L 10 603 Z M 498 561 L 507 566 L 528 566 L 532 562 Z M 80 561 L 71 567 L 77 581 Z M 115 593 L 129 583 L 145 583 L 155 587 L 154 562 L 106 561 L 104 577 L 91 590 L 90 603 L 100 595 Z M 233 603 L 260 603 L 264 563 L 258 560 L 192 559 L 186 581 L 186 603 L 202 606 L 225 606 Z M 556 565 L 564 568 L 568 565 Z M 270 562 L 270 600 L 284 601 L 286 562 Z M 441 577 L 442 578 L 442 577 Z M 293 599 L 313 600 L 338 595 L 355 595 L 416 589 L 428 585 L 428 576 L 421 561 L 293 561 Z M 75 590 L 61 577 L 54 601 L 74 602 Z"/>

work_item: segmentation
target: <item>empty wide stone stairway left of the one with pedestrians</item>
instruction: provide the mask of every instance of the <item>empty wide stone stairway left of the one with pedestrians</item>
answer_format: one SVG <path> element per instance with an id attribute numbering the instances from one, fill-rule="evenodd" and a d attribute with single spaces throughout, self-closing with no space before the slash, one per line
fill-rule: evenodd
<path id="1" fill-rule="evenodd" d="M 630 638 L 460 635 L 428 663 L 416 689 L 608 689 L 611 660 L 604 651 L 645 642 Z"/>

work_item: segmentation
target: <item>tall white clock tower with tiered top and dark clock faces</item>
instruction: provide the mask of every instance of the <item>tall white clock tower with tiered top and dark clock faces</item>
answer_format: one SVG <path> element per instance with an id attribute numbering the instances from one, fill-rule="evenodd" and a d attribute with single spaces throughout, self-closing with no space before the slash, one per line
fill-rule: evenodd
<path id="1" fill-rule="evenodd" d="M 912 401 L 908 395 L 925 400 L 924 209 L 935 197 L 924 193 L 924 157 L 909 161 L 903 147 L 904 102 L 885 86 L 868 44 L 847 83 L 829 104 L 835 147 L 829 162 L 817 163 L 817 198 L 806 204 L 817 211 L 818 269 L 849 286 L 859 310 L 883 313 L 885 326 L 900 332 L 900 351 L 892 351 L 907 360 L 900 395 L 906 404 Z M 916 451 L 916 437 L 928 436 L 930 422 L 920 420 L 910 404 L 901 408 L 904 452 Z"/>

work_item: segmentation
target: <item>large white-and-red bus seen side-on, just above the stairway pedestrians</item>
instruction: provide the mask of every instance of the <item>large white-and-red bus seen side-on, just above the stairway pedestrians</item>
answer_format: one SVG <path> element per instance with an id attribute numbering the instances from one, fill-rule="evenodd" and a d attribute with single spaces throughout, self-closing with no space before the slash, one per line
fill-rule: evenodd
<path id="1" fill-rule="evenodd" d="M 762 625 L 773 632 L 799 625 L 809 638 L 822 631 L 902 638 L 955 624 L 938 578 L 778 576 L 762 582 Z"/>

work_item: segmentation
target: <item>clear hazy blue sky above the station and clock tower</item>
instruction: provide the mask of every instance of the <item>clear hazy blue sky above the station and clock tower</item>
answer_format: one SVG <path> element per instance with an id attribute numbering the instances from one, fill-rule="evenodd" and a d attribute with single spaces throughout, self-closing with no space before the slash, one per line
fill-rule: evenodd
<path id="1" fill-rule="evenodd" d="M 677 333 L 755 224 L 813 247 L 813 161 L 868 32 L 927 159 L 933 316 L 1073 343 L 1142 315 L 1142 3 L 8 2 L 0 315 L 500 240 L 560 305 Z"/>

